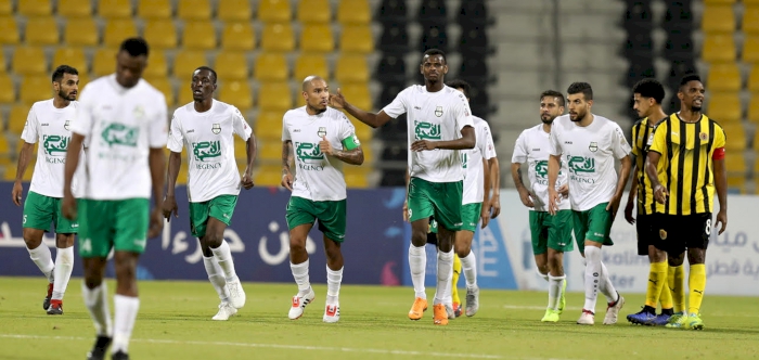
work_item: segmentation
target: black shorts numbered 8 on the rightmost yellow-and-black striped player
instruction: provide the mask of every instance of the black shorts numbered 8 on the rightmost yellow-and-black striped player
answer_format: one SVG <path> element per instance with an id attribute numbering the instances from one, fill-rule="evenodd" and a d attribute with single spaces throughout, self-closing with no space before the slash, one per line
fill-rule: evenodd
<path id="1" fill-rule="evenodd" d="M 689 248 L 709 246 L 709 236 L 713 231 L 711 213 L 692 215 L 657 214 L 658 236 L 656 248 L 667 252 L 670 257 L 680 256 Z"/>

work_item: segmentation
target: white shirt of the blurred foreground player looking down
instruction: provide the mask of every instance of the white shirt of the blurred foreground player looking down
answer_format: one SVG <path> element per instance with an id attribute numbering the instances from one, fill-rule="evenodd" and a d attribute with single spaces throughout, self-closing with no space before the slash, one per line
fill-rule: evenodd
<path id="1" fill-rule="evenodd" d="M 164 94 L 144 79 L 127 89 L 116 75 L 85 87 L 72 132 L 82 134 L 88 149 L 85 198 L 151 197 L 150 149 L 166 146 Z"/>

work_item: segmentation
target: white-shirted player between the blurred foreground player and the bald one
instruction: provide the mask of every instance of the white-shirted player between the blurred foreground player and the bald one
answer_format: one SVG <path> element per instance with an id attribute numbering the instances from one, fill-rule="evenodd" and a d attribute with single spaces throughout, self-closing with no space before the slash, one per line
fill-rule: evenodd
<path id="1" fill-rule="evenodd" d="M 246 190 L 253 188 L 256 138 L 236 107 L 214 100 L 216 79 L 213 68 L 196 68 L 192 73 L 193 102 L 173 112 L 167 144 L 171 154 L 163 211 L 167 220 L 171 219 L 171 213 L 179 216 L 175 187 L 182 164 L 182 147 L 186 144 L 190 231 L 201 243 L 208 280 L 221 299 L 219 312 L 213 319 L 223 321 L 245 305 L 245 292 L 234 271 L 224 229 L 232 221 L 240 185 Z M 242 182 L 234 158 L 234 134 L 245 140 L 247 151 Z"/>

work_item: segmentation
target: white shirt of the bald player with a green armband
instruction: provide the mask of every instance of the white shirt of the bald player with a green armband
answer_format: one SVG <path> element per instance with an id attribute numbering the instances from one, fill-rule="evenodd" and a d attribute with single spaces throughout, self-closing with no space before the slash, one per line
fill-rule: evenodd
<path id="1" fill-rule="evenodd" d="M 336 150 L 343 150 L 343 140 L 351 137 L 360 144 L 348 117 L 332 107 L 309 115 L 306 106 L 301 106 L 286 112 L 282 118 L 282 141 L 293 142 L 295 155 L 293 196 L 314 202 L 346 198 L 343 162 L 319 150 L 323 137 Z"/>

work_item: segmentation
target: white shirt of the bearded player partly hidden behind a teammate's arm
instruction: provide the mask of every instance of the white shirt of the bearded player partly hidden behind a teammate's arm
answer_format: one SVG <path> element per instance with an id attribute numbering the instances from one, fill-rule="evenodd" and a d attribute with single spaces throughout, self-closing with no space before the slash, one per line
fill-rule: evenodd
<path id="1" fill-rule="evenodd" d="M 555 120 L 554 120 L 554 124 Z M 551 155 L 550 134 L 543 131 L 543 124 L 522 131 L 514 144 L 512 163 L 527 164 L 527 189 L 532 193 L 532 208 L 536 211 L 549 210 L 549 156 Z M 562 168 L 556 179 L 556 190 L 567 183 L 567 163 L 562 159 Z M 568 210 L 569 202 L 558 204 L 559 210 Z"/>

